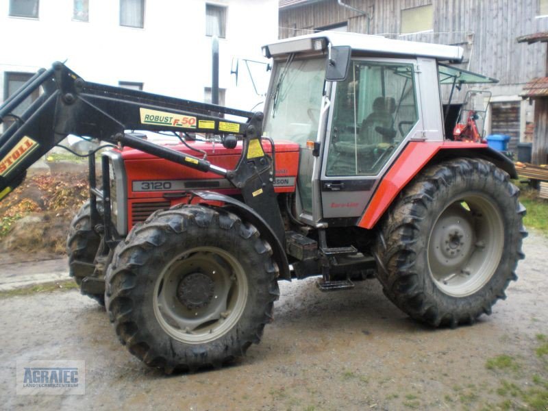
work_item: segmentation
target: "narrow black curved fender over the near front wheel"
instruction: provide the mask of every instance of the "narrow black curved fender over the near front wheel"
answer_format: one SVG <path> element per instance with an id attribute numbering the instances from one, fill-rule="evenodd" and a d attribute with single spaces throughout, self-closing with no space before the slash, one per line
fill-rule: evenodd
<path id="1" fill-rule="evenodd" d="M 271 227 L 266 224 L 266 221 L 255 211 L 253 208 L 247 206 L 242 201 L 238 201 L 233 197 L 219 194 L 219 192 L 212 191 L 192 191 L 192 194 L 200 197 L 204 201 L 220 201 L 224 203 L 223 208 L 234 212 L 242 220 L 248 221 L 253 224 L 260 232 L 262 238 L 269 242 L 272 247 L 273 257 L 279 269 L 279 279 L 286 279 L 291 281 L 291 274 L 289 271 L 289 262 L 287 260 L 285 248 L 282 243 L 279 242 L 277 236 L 274 234 Z"/>

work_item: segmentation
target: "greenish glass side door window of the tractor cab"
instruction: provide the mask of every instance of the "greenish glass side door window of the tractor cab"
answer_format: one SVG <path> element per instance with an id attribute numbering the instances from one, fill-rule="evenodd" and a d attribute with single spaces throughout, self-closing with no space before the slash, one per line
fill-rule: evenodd
<path id="1" fill-rule="evenodd" d="M 334 110 L 326 175 L 377 175 L 419 119 L 413 65 L 353 61 Z"/>

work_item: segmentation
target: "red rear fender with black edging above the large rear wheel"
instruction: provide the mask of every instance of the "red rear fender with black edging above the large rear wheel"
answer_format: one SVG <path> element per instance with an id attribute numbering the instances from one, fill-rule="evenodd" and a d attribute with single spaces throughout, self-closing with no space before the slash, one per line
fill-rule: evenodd
<path id="1" fill-rule="evenodd" d="M 358 227 L 372 229 L 399 192 L 426 166 L 451 158 L 482 158 L 517 178 L 514 163 L 506 155 L 475 142 L 410 142 L 390 167 L 358 221 Z"/>

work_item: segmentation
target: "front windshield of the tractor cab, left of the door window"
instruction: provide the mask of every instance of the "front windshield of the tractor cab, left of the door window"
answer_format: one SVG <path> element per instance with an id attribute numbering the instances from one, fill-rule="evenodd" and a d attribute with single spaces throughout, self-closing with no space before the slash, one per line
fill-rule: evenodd
<path id="1" fill-rule="evenodd" d="M 264 134 L 306 146 L 316 140 L 325 59 L 291 60 L 277 65 L 265 116 Z"/>

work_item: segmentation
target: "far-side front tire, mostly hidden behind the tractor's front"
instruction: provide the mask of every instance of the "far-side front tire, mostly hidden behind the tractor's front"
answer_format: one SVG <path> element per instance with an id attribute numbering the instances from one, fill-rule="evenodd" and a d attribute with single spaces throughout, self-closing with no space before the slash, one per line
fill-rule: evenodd
<path id="1" fill-rule="evenodd" d="M 102 203 L 97 203 L 101 212 Z M 84 277 L 92 276 L 95 269 L 95 255 L 101 244 L 101 236 L 91 227 L 90 202 L 86 201 L 75 215 L 69 235 L 66 237 L 66 254 L 69 256 L 69 275 L 78 286 L 82 286 Z M 82 290 L 81 290 L 82 291 Z M 105 305 L 105 296 L 99 294 L 82 294 L 95 299 L 101 306 Z"/>

